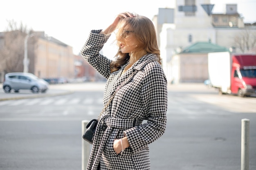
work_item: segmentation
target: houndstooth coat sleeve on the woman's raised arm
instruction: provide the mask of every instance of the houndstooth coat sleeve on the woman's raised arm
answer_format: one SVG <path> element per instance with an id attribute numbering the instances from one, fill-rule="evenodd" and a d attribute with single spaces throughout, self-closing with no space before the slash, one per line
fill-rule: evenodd
<path id="1" fill-rule="evenodd" d="M 81 50 L 83 58 L 103 77 L 108 78 L 110 75 L 111 60 L 101 55 L 99 51 L 103 45 L 108 41 L 109 35 L 99 34 L 101 30 L 92 30 Z"/>

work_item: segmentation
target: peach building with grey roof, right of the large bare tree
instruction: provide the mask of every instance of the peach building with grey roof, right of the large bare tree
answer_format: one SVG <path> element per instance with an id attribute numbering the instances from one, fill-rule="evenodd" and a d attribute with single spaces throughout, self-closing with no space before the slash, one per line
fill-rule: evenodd
<path id="1" fill-rule="evenodd" d="M 45 33 L 33 33 L 37 37 L 34 45 L 34 70 L 40 78 L 73 78 L 75 75 L 74 55 L 71 46 L 45 36 Z M 32 56 L 30 56 L 32 57 Z"/>

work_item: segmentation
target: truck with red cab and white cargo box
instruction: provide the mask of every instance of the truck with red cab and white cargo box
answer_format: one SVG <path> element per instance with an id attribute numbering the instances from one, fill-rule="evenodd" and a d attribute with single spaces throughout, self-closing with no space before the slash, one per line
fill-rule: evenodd
<path id="1" fill-rule="evenodd" d="M 211 85 L 218 88 L 219 94 L 256 94 L 255 54 L 208 53 L 208 72 Z"/>

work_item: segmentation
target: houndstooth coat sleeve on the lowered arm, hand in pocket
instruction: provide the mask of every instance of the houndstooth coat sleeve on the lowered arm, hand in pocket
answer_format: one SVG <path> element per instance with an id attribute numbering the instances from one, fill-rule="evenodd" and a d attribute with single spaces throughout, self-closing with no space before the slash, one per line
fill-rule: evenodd
<path id="1" fill-rule="evenodd" d="M 166 128 L 167 81 L 161 66 L 146 68 L 141 98 L 147 122 L 124 131 L 133 152 L 157 140 Z"/>

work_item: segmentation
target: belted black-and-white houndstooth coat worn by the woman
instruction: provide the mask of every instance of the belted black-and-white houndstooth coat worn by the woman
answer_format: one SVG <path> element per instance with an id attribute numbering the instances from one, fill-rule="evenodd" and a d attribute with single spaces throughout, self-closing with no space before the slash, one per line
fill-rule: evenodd
<path id="1" fill-rule="evenodd" d="M 97 170 L 99 165 L 101 170 L 149 170 L 148 144 L 162 136 L 166 128 L 166 77 L 155 54 L 141 57 L 124 75 L 121 73 L 126 64 L 110 73 L 111 60 L 99 53 L 110 35 L 99 34 L 100 31 L 90 32 L 81 55 L 108 79 L 105 106 L 118 87 L 119 90 L 99 117 L 87 170 Z M 113 142 L 124 136 L 130 146 L 117 155 Z"/>

